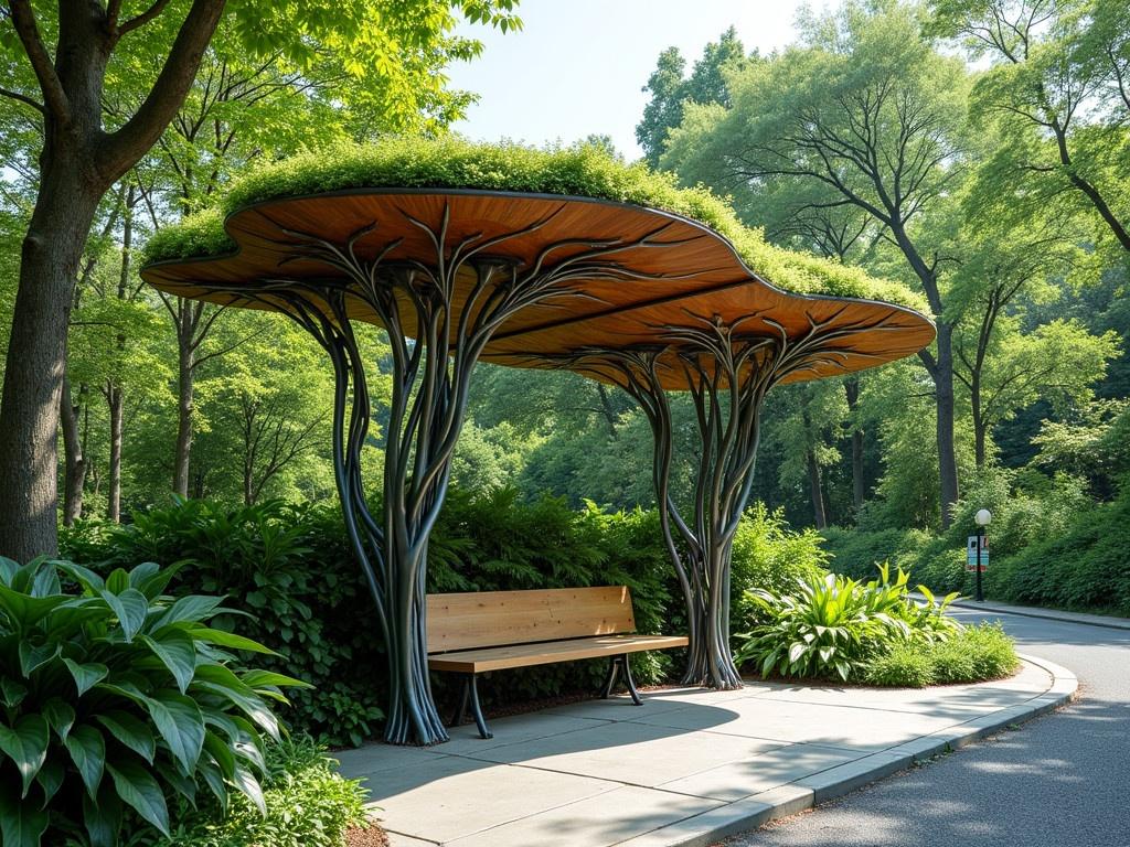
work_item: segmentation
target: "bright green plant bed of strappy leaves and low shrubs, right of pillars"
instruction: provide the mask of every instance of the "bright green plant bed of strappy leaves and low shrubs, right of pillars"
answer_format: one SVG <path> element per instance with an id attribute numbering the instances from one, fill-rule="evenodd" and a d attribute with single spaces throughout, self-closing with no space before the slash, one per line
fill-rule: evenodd
<path id="1" fill-rule="evenodd" d="M 1017 658 L 999 629 L 966 629 L 946 614 L 955 594 L 936 597 L 910 574 L 879 567 L 862 583 L 840 574 L 798 580 L 792 591 L 747 593 L 750 628 L 736 661 L 763 676 L 838 679 L 888 686 L 973 682 L 1011 673 Z"/>

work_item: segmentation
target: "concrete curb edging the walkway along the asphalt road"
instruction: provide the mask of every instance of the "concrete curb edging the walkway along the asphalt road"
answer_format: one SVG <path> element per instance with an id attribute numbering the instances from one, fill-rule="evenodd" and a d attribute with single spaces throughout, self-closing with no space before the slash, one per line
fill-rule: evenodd
<path id="1" fill-rule="evenodd" d="M 1079 681 L 1074 673 L 1045 658 L 1017 655 L 1023 662 L 1044 670 L 1052 678 L 1046 691 L 1019 706 L 981 715 L 847 765 L 728 803 L 621 841 L 617 847 L 710 847 L 730 836 L 758 829 L 770 821 L 789 818 L 819 803 L 842 797 L 869 783 L 905 770 L 914 762 L 957 750 L 1007 727 L 1045 715 L 1075 699 Z"/>

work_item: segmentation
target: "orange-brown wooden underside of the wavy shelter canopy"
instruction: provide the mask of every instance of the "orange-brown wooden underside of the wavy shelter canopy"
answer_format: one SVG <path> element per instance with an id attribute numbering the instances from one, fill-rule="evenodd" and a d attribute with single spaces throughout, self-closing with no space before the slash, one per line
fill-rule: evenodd
<path id="1" fill-rule="evenodd" d="M 382 261 L 434 264 L 433 236 L 420 224 L 438 233 L 445 215 L 447 245 L 473 235 L 499 238 L 492 255 L 525 265 L 549 248 L 548 267 L 600 244 L 603 261 L 617 269 L 611 276 L 594 272 L 591 279 L 574 281 L 567 295 L 516 313 L 496 331 L 484 350 L 485 361 L 562 367 L 579 352 L 662 343 L 671 326 L 715 317 L 745 318 L 747 334 L 784 328 L 790 337 L 800 337 L 812 322 L 850 330 L 835 342 L 834 361 L 815 364 L 794 377 L 799 379 L 872 367 L 912 355 L 933 340 L 933 324 L 903 306 L 775 288 L 747 268 L 725 238 L 696 221 L 637 206 L 547 194 L 380 189 L 270 200 L 227 219 L 238 245 L 235 253 L 157 262 L 141 276 L 182 297 L 271 308 L 277 300 L 262 297 L 262 291 L 280 280 L 344 278 L 324 262 L 303 257 L 303 237 L 296 233 L 344 244 L 375 224 L 357 241 L 358 256 L 373 259 L 395 244 Z M 464 276 L 457 286 L 457 312 L 473 283 L 469 269 Z M 243 292 L 261 297 L 249 302 Z M 406 331 L 414 334 L 415 315 L 407 303 L 401 315 Z M 360 299 L 350 303 L 350 316 L 379 323 Z M 676 369 L 669 378 L 669 387 L 680 387 Z"/>

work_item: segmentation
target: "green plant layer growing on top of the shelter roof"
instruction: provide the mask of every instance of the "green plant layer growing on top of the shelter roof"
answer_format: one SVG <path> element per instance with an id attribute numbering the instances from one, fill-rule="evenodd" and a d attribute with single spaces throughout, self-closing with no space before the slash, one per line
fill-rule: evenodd
<path id="1" fill-rule="evenodd" d="M 223 219 L 264 200 L 344 189 L 483 189 L 612 200 L 697 220 L 729 239 L 746 264 L 773 285 L 809 295 L 886 300 L 927 312 L 902 283 L 869 277 L 817 256 L 768 244 L 705 187 L 683 189 L 644 164 L 626 165 L 591 145 L 533 149 L 471 143 L 453 137 L 399 138 L 377 145 L 340 145 L 260 166 L 237 180 L 219 206 L 156 233 L 147 262 L 229 253 L 235 244 Z"/>

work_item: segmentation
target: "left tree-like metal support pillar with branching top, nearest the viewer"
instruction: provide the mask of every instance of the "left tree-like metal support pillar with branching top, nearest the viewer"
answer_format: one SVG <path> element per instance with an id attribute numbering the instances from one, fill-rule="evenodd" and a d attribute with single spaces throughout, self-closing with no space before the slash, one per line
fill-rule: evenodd
<path id="1" fill-rule="evenodd" d="M 559 211 L 559 210 L 558 210 Z M 518 311 L 549 298 L 579 296 L 586 279 L 655 279 L 615 256 L 661 247 L 669 225 L 637 239 L 547 243 L 523 265 L 505 255 L 507 242 L 530 236 L 556 211 L 501 236 L 450 237 L 450 207 L 438 226 L 400 212 L 424 233 L 433 257 L 390 260 L 402 239 L 374 248 L 372 225 L 345 244 L 279 227 L 293 260 L 316 261 L 325 278 L 277 278 L 250 292 L 220 288 L 284 311 L 329 355 L 336 377 L 333 468 L 346 531 L 376 605 L 376 629 L 389 663 L 384 739 L 436 744 L 447 732 L 436 709 L 427 664 L 427 551 L 440 515 L 451 457 L 467 409 L 471 374 L 495 331 Z M 358 250 L 365 244 L 365 255 Z M 458 285 L 457 285 L 458 282 Z M 362 486 L 360 451 L 372 403 L 365 363 L 350 316 L 360 304 L 385 328 L 392 348 L 392 400 L 386 433 L 383 512 L 371 514 Z"/>

